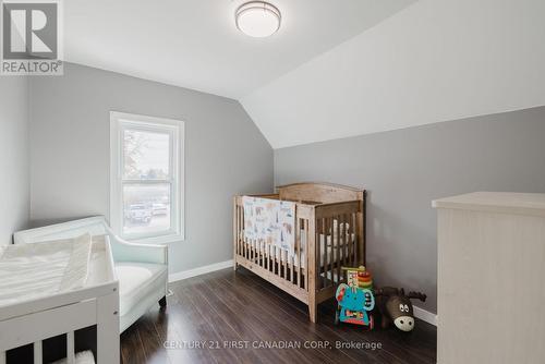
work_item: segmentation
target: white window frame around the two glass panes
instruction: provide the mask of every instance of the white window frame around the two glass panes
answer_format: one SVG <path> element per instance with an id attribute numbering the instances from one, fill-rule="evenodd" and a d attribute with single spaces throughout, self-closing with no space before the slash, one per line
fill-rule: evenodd
<path id="1" fill-rule="evenodd" d="M 170 166 L 168 180 L 123 179 L 123 132 L 126 130 L 150 131 L 170 134 Z M 184 122 L 125 112 L 110 112 L 110 225 L 125 240 L 140 243 L 171 243 L 184 240 Z M 141 233 L 123 233 L 123 185 L 170 183 L 170 230 Z"/>

